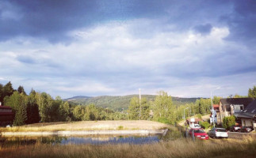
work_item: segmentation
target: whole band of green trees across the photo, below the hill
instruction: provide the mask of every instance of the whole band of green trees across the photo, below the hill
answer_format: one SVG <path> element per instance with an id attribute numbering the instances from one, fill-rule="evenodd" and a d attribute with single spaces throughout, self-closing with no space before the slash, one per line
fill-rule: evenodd
<path id="1" fill-rule="evenodd" d="M 256 98 L 256 86 L 249 88 L 248 96 Z M 235 95 L 234 97 L 248 97 Z M 212 102 L 218 104 L 221 97 L 214 96 Z M 13 126 L 36 122 L 72 122 L 89 120 L 154 120 L 174 124 L 189 115 L 210 114 L 211 100 L 198 99 L 194 103 L 174 103 L 172 96 L 160 91 L 154 100 L 146 97 L 132 97 L 127 110 L 113 111 L 108 107 L 97 107 L 94 103 L 80 105 L 64 101 L 60 96 L 55 99 L 46 92 L 31 90 L 26 94 L 20 85 L 13 88 L 11 82 L 0 84 L 0 102 L 13 108 Z"/>

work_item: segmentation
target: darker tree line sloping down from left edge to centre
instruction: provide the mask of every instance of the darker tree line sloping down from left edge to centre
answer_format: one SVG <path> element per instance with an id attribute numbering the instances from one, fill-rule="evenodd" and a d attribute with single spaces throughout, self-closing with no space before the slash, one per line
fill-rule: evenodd
<path id="1" fill-rule="evenodd" d="M 29 95 L 24 88 L 13 89 L 11 82 L 0 84 L 1 102 L 12 107 L 14 112 L 13 125 L 21 126 L 36 122 L 67 122 L 89 120 L 120 120 L 127 119 L 122 112 L 107 108 L 71 104 L 63 101 L 60 96 L 52 98 L 46 92 L 31 90 Z"/>

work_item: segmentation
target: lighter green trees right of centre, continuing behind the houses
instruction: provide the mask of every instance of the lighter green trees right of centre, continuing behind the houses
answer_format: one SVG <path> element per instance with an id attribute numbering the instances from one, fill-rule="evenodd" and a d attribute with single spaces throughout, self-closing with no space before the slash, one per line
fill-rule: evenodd
<path id="1" fill-rule="evenodd" d="M 231 97 L 231 96 L 229 96 Z M 235 94 L 234 98 L 251 97 L 256 99 L 256 86 L 249 88 L 248 96 L 239 96 Z M 175 105 L 171 96 L 167 92 L 160 91 L 155 100 L 147 100 L 138 97 L 132 98 L 128 107 L 128 119 L 150 119 L 159 122 L 174 124 L 175 122 L 188 117 L 189 115 L 209 115 L 213 104 L 220 103 L 220 96 L 213 96 L 211 99 L 201 98 L 195 103 L 185 103 L 183 105 Z"/>

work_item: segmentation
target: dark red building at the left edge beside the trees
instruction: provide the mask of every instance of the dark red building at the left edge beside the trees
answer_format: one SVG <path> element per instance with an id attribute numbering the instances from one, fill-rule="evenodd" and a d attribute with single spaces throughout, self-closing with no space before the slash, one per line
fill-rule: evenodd
<path id="1" fill-rule="evenodd" d="M 2 106 L 0 102 L 0 126 L 11 125 L 13 123 L 14 113 L 11 107 Z"/>

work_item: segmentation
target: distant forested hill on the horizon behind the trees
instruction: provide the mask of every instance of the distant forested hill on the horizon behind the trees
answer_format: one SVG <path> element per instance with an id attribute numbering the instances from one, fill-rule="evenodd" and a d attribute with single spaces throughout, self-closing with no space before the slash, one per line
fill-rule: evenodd
<path id="1" fill-rule="evenodd" d="M 109 108 L 114 111 L 127 110 L 132 97 L 139 97 L 139 95 L 128 96 L 74 96 L 67 98 L 65 101 L 69 101 L 75 104 L 88 105 L 94 103 L 97 107 Z M 141 95 L 141 97 L 147 98 L 147 100 L 155 100 L 155 95 Z M 185 103 L 194 103 L 199 98 L 179 98 L 172 97 L 175 105 L 181 105 Z"/>

